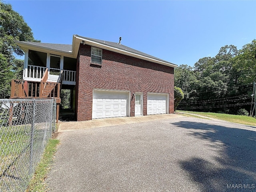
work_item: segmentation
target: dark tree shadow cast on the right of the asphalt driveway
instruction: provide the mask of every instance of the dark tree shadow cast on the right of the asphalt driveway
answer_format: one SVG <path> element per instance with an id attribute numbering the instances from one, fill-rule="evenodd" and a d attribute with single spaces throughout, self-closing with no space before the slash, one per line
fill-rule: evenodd
<path id="1" fill-rule="evenodd" d="M 180 161 L 190 179 L 200 186 L 202 191 L 256 191 L 256 128 L 240 129 L 202 122 L 173 122 L 180 128 L 190 130 L 187 134 L 210 142 L 212 150 L 220 155 L 215 158 L 218 166 L 205 159 L 191 157 Z M 234 124 L 232 124 L 234 125 Z M 243 126 L 246 127 L 246 126 Z M 255 131 L 252 131 L 254 130 Z M 202 146 L 204 151 L 204 146 Z"/>

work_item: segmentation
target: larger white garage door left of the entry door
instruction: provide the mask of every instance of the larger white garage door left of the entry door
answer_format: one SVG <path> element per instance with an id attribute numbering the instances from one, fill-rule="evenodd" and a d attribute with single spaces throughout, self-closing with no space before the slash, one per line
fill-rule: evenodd
<path id="1" fill-rule="evenodd" d="M 94 90 L 92 118 L 128 116 L 129 92 Z"/>

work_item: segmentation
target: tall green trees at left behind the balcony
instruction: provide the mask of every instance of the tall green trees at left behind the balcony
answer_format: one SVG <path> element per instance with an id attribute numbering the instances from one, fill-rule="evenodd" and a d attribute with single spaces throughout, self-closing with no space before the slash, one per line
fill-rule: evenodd
<path id="1" fill-rule="evenodd" d="M 17 71 L 14 54 L 22 56 L 24 53 L 15 44 L 15 40 L 34 41 L 33 33 L 23 17 L 12 10 L 10 4 L 0 0 L 0 97 L 10 96 L 10 82 Z M 19 63 L 20 64 L 20 63 Z M 20 70 L 18 70 L 20 72 Z"/>

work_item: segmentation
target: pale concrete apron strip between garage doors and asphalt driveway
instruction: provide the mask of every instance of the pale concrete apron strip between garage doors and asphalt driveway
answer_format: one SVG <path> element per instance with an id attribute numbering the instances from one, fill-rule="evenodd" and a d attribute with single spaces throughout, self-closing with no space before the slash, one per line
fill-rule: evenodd
<path id="1" fill-rule="evenodd" d="M 116 117 L 116 118 L 104 118 L 104 119 L 94 119 L 88 121 L 69 121 L 69 122 L 59 122 L 58 132 L 81 130 L 96 127 L 106 127 L 115 126 L 123 124 L 131 124 L 138 122 L 149 122 L 154 120 L 164 120 L 184 117 L 177 114 L 157 114 L 157 115 L 147 115 L 147 116 L 136 116 L 136 117 Z"/>

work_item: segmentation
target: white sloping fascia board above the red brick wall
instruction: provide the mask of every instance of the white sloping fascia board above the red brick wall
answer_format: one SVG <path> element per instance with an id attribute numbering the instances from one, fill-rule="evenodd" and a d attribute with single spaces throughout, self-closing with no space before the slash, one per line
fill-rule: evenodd
<path id="1" fill-rule="evenodd" d="M 175 64 L 170 64 L 170 63 L 167 63 L 167 62 L 156 60 L 154 58 L 149 58 L 149 57 L 142 56 L 142 55 L 139 55 L 139 54 L 136 54 L 136 53 L 131 53 L 131 52 L 128 52 L 128 51 L 125 51 L 125 50 L 120 50 L 118 48 L 114 48 L 114 47 L 111 47 L 111 46 L 108 46 L 108 45 L 102 45 L 98 42 L 90 41 L 90 40 L 83 39 L 83 38 L 80 38 L 80 37 L 76 37 L 76 38 L 80 42 L 84 41 L 86 44 L 91 45 L 91 46 L 96 46 L 98 48 L 110 50 L 110 51 L 113 51 L 113 52 L 117 52 L 117 53 L 128 55 L 128 56 L 132 56 L 132 57 L 139 58 L 139 59 L 142 59 L 142 60 L 147 60 L 147 61 L 158 63 L 158 64 L 161 64 L 161 65 L 170 66 L 170 67 L 173 67 L 173 68 L 177 67 L 177 65 L 175 65 Z"/>

